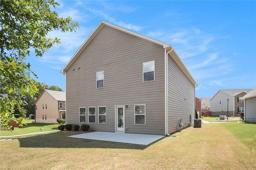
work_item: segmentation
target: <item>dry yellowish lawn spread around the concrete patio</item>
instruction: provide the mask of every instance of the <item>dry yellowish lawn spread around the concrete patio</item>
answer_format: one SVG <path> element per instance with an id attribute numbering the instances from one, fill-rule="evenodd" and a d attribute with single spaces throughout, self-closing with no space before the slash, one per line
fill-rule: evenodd
<path id="1" fill-rule="evenodd" d="M 61 131 L 0 141 L 0 169 L 256 169 L 255 128 L 203 124 L 150 146 L 68 138 L 81 132 Z"/>

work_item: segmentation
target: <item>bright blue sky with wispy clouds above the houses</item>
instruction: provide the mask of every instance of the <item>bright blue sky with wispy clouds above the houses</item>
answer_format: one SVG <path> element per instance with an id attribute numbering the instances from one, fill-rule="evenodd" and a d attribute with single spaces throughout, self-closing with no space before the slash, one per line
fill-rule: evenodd
<path id="1" fill-rule="evenodd" d="M 196 96 L 218 89 L 256 88 L 256 1 L 58 1 L 60 16 L 80 25 L 53 31 L 61 44 L 27 61 L 37 81 L 65 90 L 61 69 L 100 21 L 171 44 L 198 83 Z"/>

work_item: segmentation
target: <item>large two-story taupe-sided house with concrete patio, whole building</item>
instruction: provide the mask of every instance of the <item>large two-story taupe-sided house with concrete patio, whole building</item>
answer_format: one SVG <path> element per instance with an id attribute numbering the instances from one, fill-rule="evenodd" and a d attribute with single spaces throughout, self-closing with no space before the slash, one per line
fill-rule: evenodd
<path id="1" fill-rule="evenodd" d="M 63 68 L 66 123 L 169 134 L 193 124 L 195 80 L 161 41 L 101 22 Z"/>

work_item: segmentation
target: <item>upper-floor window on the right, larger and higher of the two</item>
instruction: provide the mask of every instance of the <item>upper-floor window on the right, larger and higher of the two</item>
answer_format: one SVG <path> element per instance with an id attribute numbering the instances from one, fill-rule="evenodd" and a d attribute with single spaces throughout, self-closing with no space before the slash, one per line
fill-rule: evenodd
<path id="1" fill-rule="evenodd" d="M 155 80 L 155 61 L 143 63 L 143 82 Z"/>

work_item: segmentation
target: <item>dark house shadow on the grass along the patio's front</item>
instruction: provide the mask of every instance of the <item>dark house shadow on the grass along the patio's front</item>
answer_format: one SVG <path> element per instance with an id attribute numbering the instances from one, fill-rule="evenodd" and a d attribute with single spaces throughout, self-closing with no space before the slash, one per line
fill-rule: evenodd
<path id="1" fill-rule="evenodd" d="M 20 138 L 20 147 L 23 148 L 113 148 L 113 149 L 139 149 L 143 150 L 148 146 L 134 145 L 130 143 L 109 142 L 90 139 L 69 138 L 70 135 L 81 132 L 57 132 L 37 135 L 34 137 Z"/>

